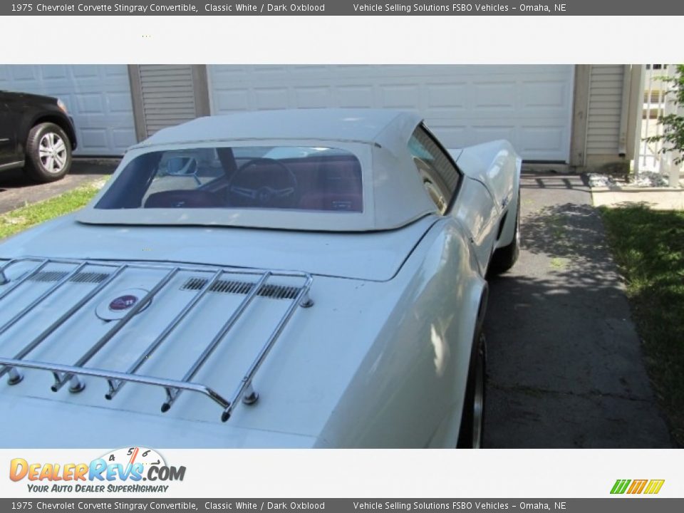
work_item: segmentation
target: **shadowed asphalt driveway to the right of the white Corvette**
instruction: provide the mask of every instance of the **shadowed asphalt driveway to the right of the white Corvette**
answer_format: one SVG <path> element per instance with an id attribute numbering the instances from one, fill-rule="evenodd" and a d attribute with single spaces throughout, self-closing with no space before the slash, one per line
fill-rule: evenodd
<path id="1" fill-rule="evenodd" d="M 672 447 L 576 175 L 524 174 L 522 250 L 490 281 L 486 447 Z"/>

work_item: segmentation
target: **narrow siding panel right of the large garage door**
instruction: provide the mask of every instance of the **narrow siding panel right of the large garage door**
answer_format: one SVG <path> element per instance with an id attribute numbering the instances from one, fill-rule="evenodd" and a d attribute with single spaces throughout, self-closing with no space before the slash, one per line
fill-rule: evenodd
<path id="1" fill-rule="evenodd" d="M 622 65 L 591 66 L 586 155 L 618 156 L 623 78 Z"/>

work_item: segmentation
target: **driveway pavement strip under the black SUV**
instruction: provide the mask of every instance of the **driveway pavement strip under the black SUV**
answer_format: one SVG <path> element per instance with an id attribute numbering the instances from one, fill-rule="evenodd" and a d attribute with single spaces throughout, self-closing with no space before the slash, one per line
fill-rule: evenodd
<path id="1" fill-rule="evenodd" d="M 93 182 L 115 170 L 118 160 L 74 159 L 69 172 L 63 180 L 47 184 L 36 184 L 28 180 L 22 170 L 0 173 L 0 214 L 9 212 L 28 203 L 43 201 L 63 192 Z"/>

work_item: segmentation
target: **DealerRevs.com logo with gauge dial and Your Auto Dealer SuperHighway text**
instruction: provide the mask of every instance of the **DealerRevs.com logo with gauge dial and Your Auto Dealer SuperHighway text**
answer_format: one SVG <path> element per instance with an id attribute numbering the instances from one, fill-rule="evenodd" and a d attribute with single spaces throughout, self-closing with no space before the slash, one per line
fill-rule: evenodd
<path id="1" fill-rule="evenodd" d="M 185 467 L 167 465 L 157 451 L 124 447 L 88 463 L 29 462 L 17 457 L 9 465 L 9 478 L 26 482 L 29 492 L 160 492 L 170 482 L 182 481 Z"/>

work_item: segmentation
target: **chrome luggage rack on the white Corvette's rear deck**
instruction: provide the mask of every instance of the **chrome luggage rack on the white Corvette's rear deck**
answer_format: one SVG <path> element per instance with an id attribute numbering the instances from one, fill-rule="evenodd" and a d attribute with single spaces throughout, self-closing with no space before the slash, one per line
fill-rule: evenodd
<path id="1" fill-rule="evenodd" d="M 32 269 L 27 269 L 21 276 L 17 276 L 15 279 L 8 278 L 8 271 L 12 266 L 26 265 L 30 263 L 33 265 Z M 66 272 L 49 271 L 48 269 L 53 264 L 58 264 L 61 267 L 72 266 L 71 270 Z M 96 267 L 98 269 L 111 268 L 113 271 L 110 274 L 97 274 L 92 272 L 86 272 L 88 268 Z M 147 292 L 145 296 L 139 301 L 136 301 L 133 306 L 130 307 L 128 312 L 116 321 L 112 328 L 110 328 L 104 336 L 102 336 L 93 346 L 86 351 L 86 353 L 78 358 L 78 361 L 73 365 L 62 365 L 60 363 L 49 363 L 41 361 L 31 361 L 24 360 L 31 351 L 37 348 L 43 341 L 49 338 L 60 326 L 68 321 L 71 316 L 76 314 L 90 301 L 95 299 L 98 294 L 103 292 L 108 285 L 112 284 L 115 279 L 123 276 L 126 271 L 133 269 L 138 270 L 150 270 L 154 269 L 156 271 L 167 271 L 166 274 L 157 281 L 157 284 Z M 85 367 L 86 363 L 93 358 L 100 349 L 102 349 L 106 343 L 108 343 L 125 325 L 130 321 L 135 314 L 142 311 L 143 309 L 150 306 L 152 298 L 162 291 L 162 289 L 167 286 L 172 278 L 177 276 L 180 272 L 189 271 L 197 274 L 204 274 L 207 276 L 206 279 L 190 279 L 187 281 L 184 289 L 196 291 L 191 297 L 190 301 L 185 304 L 179 314 L 172 319 L 170 323 L 165 326 L 165 328 L 159 333 L 152 343 L 143 351 L 140 356 L 133 362 L 132 365 L 125 372 L 107 370 L 102 368 L 89 368 Z M 125 383 L 142 383 L 145 385 L 156 385 L 166 390 L 166 400 L 162 403 L 162 412 L 168 411 L 175 400 L 178 398 L 182 390 L 190 390 L 192 392 L 198 392 L 214 400 L 222 408 L 221 420 L 223 422 L 227 421 L 235 405 L 242 400 L 245 404 L 256 403 L 259 399 L 259 395 L 252 387 L 252 380 L 254 375 L 259 371 L 259 367 L 266 356 L 268 356 L 271 348 L 273 348 L 280 334 L 284 330 L 286 324 L 289 322 L 294 312 L 298 306 L 302 308 L 308 308 L 313 305 L 313 301 L 309 298 L 309 290 L 311 289 L 311 283 L 313 278 L 311 274 L 297 272 L 297 271 L 267 271 L 267 270 L 254 270 L 254 269 L 235 269 L 230 267 L 222 266 L 189 266 L 189 265 L 172 265 L 172 264 L 157 264 L 157 263 L 145 263 L 145 262 L 112 262 L 112 261 L 98 261 L 98 260 L 78 260 L 78 259 L 43 259 L 37 257 L 25 257 L 18 259 L 0 259 L 0 311 L 1 304 L 8 296 L 14 291 L 20 289 L 21 285 L 26 284 L 31 279 L 38 279 L 38 276 L 49 276 L 43 281 L 53 281 L 54 284 L 49 286 L 48 289 L 43 291 L 36 299 L 33 299 L 30 304 L 21 309 L 19 313 L 15 314 L 9 321 L 0 321 L 0 336 L 2 336 L 11 326 L 14 326 L 17 322 L 24 318 L 31 309 L 35 308 L 42 301 L 48 299 L 55 291 L 60 289 L 61 286 L 71 282 L 90 282 L 94 283 L 93 289 L 90 289 L 88 293 L 79 299 L 76 304 L 71 306 L 64 314 L 62 314 L 56 321 L 51 323 L 50 326 L 45 328 L 41 333 L 34 338 L 31 342 L 26 344 L 24 348 L 16 353 L 14 358 L 6 358 L 0 356 L 0 377 L 5 374 L 9 374 L 9 380 L 7 383 L 9 385 L 16 385 L 20 383 L 23 379 L 22 373 L 19 371 L 20 368 L 30 368 L 38 369 L 43 371 L 50 371 L 54 378 L 55 383 L 51 386 L 53 392 L 60 390 L 66 383 L 71 383 L 69 390 L 72 393 L 78 393 L 83 388 L 85 388 L 85 383 L 83 382 L 83 376 L 95 376 L 98 378 L 105 378 L 109 385 L 109 390 L 105 394 L 105 398 L 111 400 L 118 393 L 119 390 L 125 385 Z M 95 276 L 95 277 L 93 277 Z M 259 276 L 255 282 L 252 281 L 236 281 L 237 276 Z M 225 278 L 228 277 L 233 281 L 226 281 Z M 288 278 L 288 279 L 301 279 L 300 286 L 281 286 L 268 283 L 271 278 Z M 187 370 L 185 375 L 178 379 L 169 379 L 162 377 L 155 377 L 150 375 L 140 375 L 136 371 L 142 366 L 143 363 L 150 357 L 154 351 L 159 348 L 162 343 L 167 339 L 167 337 L 172 333 L 172 331 L 180 324 L 180 322 L 187 316 L 187 314 L 192 311 L 192 309 L 199 304 L 199 301 L 209 292 L 209 291 L 229 291 L 235 294 L 244 294 L 244 299 L 239 303 L 237 309 L 235 309 L 232 314 L 227 318 L 219 331 L 215 334 L 211 341 L 204 347 L 204 350 L 199 355 L 197 360 L 192 363 L 190 368 Z M 231 398 L 227 399 L 223 395 L 219 394 L 216 390 L 209 388 L 207 385 L 201 383 L 195 383 L 192 378 L 195 377 L 200 368 L 207 362 L 209 356 L 214 352 L 214 350 L 219 346 L 219 343 L 227 336 L 231 328 L 237 323 L 238 319 L 247 311 L 252 300 L 256 296 L 268 296 L 274 299 L 285 299 L 289 300 L 289 304 L 286 306 L 285 312 L 281 318 L 276 322 L 276 325 L 271 331 L 270 336 L 266 339 L 263 346 L 261 346 L 257 356 L 252 361 L 247 372 L 244 373 L 242 380 L 240 380 L 237 388 L 235 389 Z M 1 349 L 1 338 L 0 338 L 0 349 Z"/>

